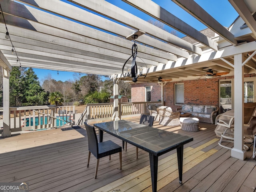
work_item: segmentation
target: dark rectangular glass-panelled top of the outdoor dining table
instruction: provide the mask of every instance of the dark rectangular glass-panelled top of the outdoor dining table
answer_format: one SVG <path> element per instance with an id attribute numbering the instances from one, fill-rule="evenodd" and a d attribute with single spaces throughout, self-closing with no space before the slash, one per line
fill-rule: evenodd
<path id="1" fill-rule="evenodd" d="M 193 140 L 189 136 L 126 120 L 96 123 L 94 126 L 156 156 L 174 150 Z"/>

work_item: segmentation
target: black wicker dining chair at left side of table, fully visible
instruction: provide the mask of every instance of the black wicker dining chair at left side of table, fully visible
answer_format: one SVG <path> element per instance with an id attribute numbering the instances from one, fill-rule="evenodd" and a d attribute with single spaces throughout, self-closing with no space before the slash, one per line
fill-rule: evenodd
<path id="1" fill-rule="evenodd" d="M 97 159 L 94 178 L 96 179 L 96 177 L 97 177 L 100 158 L 106 157 L 108 155 L 109 155 L 109 159 L 110 159 L 110 155 L 119 152 L 120 169 L 122 169 L 122 147 L 119 146 L 118 144 L 112 142 L 111 140 L 107 140 L 107 141 L 98 143 L 98 139 L 97 139 L 97 135 L 96 135 L 94 126 L 90 126 L 90 125 L 86 124 L 86 122 L 84 122 L 84 126 L 85 126 L 86 132 L 87 132 L 88 148 L 89 148 L 87 167 L 89 167 L 91 153 Z"/>

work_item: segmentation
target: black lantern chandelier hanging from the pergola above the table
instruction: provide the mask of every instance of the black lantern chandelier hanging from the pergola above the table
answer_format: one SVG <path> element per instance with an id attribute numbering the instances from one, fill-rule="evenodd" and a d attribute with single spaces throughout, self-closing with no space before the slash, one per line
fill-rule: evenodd
<path id="1" fill-rule="evenodd" d="M 126 70 L 126 76 L 124 76 L 124 67 L 126 65 L 126 63 L 128 62 L 128 60 L 126 60 L 126 62 L 124 63 L 124 66 L 122 68 L 122 74 L 124 77 L 131 77 L 133 82 L 137 82 L 139 77 L 146 77 L 148 74 L 148 68 L 147 68 L 147 72 L 144 75 L 143 74 L 143 67 L 140 66 L 139 67 L 139 72 L 138 72 L 138 67 L 136 64 L 136 57 L 137 57 L 137 50 L 138 50 L 138 46 L 135 44 L 135 39 L 138 38 L 138 35 L 132 35 L 132 38 L 134 39 L 134 44 L 132 45 L 132 55 L 128 58 L 128 60 L 132 57 L 132 64 L 131 67 L 127 67 Z M 143 60 L 142 60 L 143 61 Z M 146 65 L 146 64 L 145 64 Z"/>

